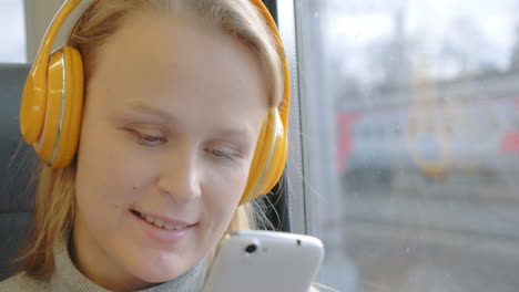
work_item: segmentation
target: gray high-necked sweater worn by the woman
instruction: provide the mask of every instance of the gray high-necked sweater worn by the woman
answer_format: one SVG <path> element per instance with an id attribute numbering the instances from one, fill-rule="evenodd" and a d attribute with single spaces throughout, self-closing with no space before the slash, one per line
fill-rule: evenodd
<path id="1" fill-rule="evenodd" d="M 27 274 L 19 273 L 0 282 L 0 291 L 9 292 L 108 292 L 89 279 L 86 279 L 72 263 L 65 241 L 63 240 L 54 250 L 55 271 L 49 281 L 35 280 Z M 199 262 L 179 278 L 141 290 L 145 292 L 200 292 L 205 277 L 205 260 Z"/>

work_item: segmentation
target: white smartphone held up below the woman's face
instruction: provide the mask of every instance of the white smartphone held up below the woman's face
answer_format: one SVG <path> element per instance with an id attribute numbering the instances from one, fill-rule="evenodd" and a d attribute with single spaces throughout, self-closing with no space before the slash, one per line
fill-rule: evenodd
<path id="1" fill-rule="evenodd" d="M 238 231 L 218 244 L 203 292 L 306 292 L 323 262 L 315 237 Z"/>

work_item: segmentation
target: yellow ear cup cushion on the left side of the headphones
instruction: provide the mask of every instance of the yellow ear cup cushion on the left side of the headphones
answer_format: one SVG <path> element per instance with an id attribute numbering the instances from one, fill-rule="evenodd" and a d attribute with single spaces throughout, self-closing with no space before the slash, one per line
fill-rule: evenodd
<path id="1" fill-rule="evenodd" d="M 48 166 L 63 168 L 78 148 L 83 107 L 83 62 L 78 50 L 64 46 L 50 56 L 48 98 L 40 138 L 33 144 Z"/>

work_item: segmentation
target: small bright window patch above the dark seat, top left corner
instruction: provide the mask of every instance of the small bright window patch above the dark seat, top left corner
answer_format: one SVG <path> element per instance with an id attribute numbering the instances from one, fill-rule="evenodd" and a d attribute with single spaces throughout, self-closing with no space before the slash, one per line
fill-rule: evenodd
<path id="1" fill-rule="evenodd" d="M 27 63 L 22 0 L 0 1 L 0 63 Z"/>

